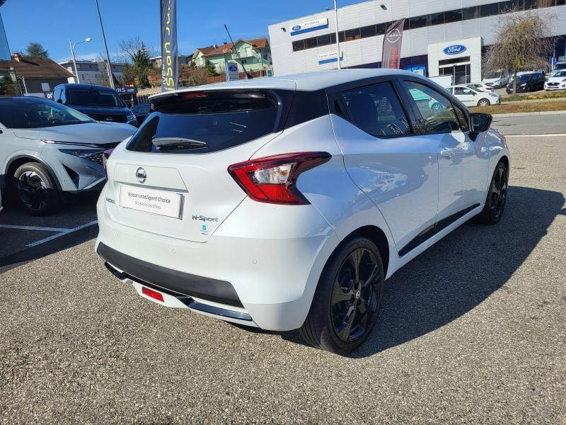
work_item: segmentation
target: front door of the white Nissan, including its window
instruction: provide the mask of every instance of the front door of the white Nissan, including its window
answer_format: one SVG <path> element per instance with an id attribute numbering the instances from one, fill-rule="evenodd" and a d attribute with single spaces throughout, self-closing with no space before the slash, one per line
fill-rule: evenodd
<path id="1" fill-rule="evenodd" d="M 483 147 L 483 137 L 470 138 L 466 112 L 447 96 L 424 81 L 405 80 L 408 94 L 417 91 L 434 97 L 441 109 L 416 108 L 420 131 L 439 146 L 438 221 L 458 217 L 473 210 L 485 196 L 489 157 Z"/>

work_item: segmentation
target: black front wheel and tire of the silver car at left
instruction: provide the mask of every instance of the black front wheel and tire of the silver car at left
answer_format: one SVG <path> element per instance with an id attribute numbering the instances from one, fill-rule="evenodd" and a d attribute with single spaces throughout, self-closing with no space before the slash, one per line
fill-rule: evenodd
<path id="1" fill-rule="evenodd" d="M 47 167 L 38 162 L 18 167 L 13 174 L 12 189 L 18 203 L 30 215 L 49 215 L 61 205 L 54 179 Z"/>

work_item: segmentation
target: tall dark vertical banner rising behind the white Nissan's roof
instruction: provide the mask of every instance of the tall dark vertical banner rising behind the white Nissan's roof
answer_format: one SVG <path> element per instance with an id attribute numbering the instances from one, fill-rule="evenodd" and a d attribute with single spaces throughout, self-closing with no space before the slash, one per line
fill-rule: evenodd
<path id="1" fill-rule="evenodd" d="M 161 0 L 161 91 L 177 89 L 177 0 Z"/>

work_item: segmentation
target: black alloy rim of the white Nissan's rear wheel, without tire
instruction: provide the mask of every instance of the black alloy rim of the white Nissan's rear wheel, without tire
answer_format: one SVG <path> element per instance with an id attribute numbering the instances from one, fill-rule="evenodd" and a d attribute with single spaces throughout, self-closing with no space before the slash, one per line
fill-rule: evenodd
<path id="1" fill-rule="evenodd" d="M 379 300 L 379 266 L 368 249 L 352 251 L 333 285 L 330 314 L 338 338 L 355 341 L 371 328 Z"/>

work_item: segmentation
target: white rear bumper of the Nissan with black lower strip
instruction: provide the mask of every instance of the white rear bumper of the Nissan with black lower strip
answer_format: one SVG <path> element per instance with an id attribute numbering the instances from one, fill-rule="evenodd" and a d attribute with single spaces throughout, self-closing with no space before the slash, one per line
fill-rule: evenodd
<path id="1" fill-rule="evenodd" d="M 140 295 L 144 285 L 168 295 L 162 305 L 262 329 L 301 327 L 322 268 L 337 246 L 335 232 L 312 205 L 281 208 L 248 198 L 242 204 L 207 242 L 190 242 L 113 222 L 103 190 L 96 251 Z M 283 210 L 290 225 L 282 229 L 280 215 L 262 214 L 258 207 Z M 260 217 L 252 228 L 250 208 Z M 234 229 L 250 237 L 233 234 Z"/>

